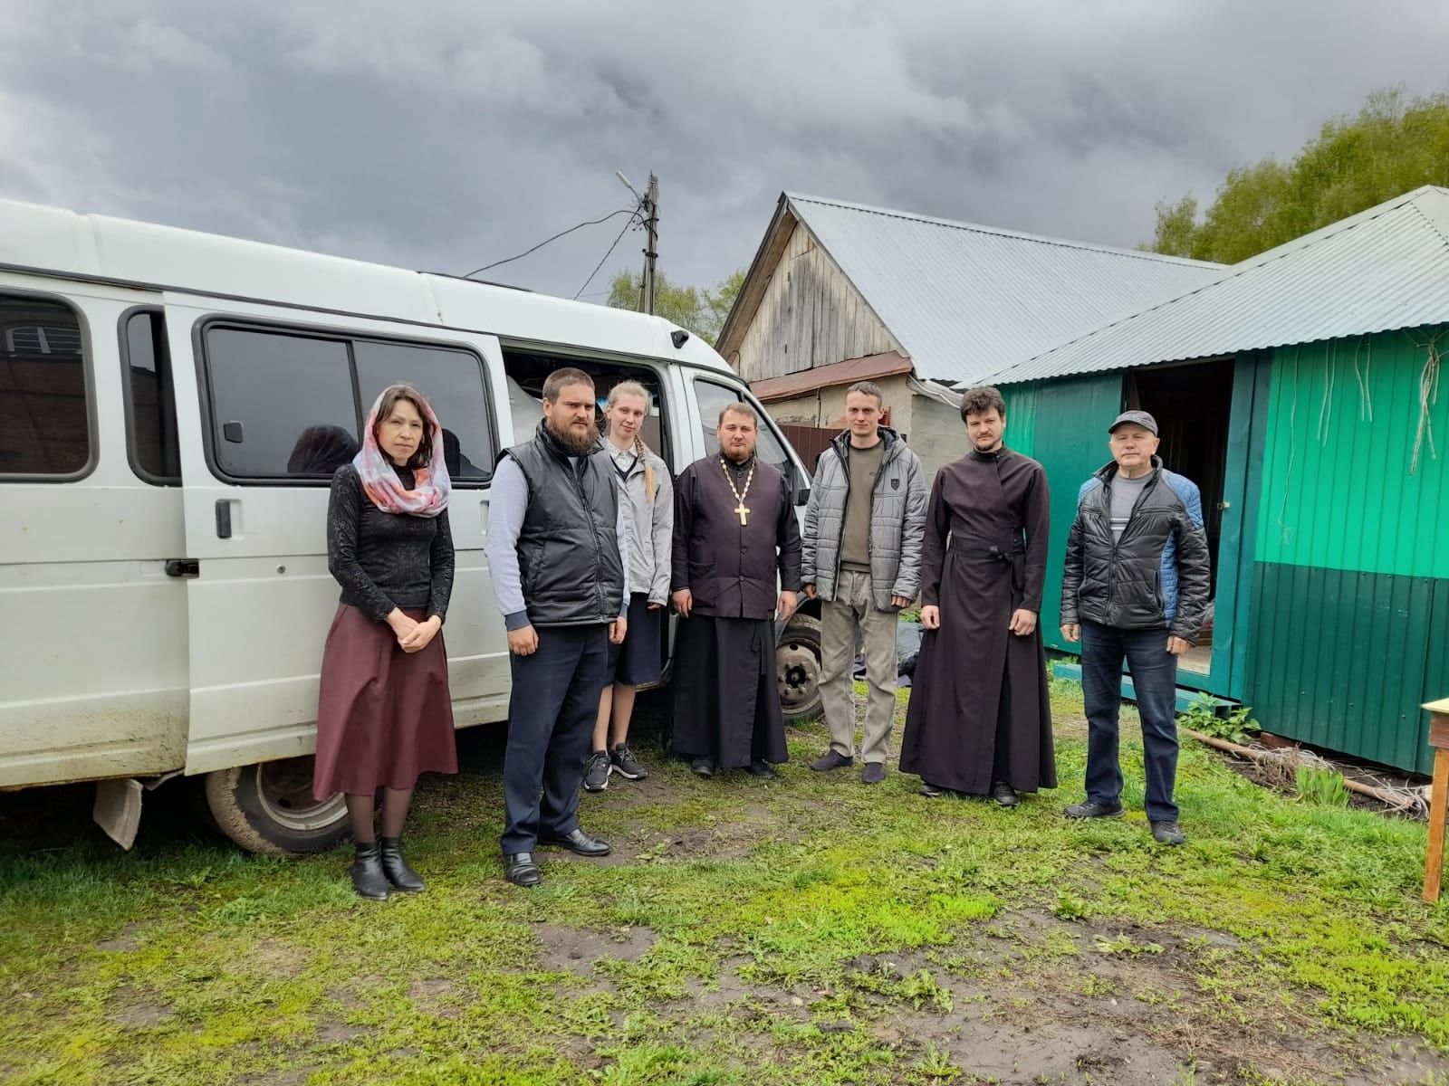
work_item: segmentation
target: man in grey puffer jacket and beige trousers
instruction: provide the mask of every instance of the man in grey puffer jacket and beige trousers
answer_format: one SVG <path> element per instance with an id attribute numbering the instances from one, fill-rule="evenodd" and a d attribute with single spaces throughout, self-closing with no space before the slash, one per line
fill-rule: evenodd
<path id="1" fill-rule="evenodd" d="M 845 395 L 849 429 L 820 453 L 806 507 L 801 581 L 819 597 L 820 696 L 830 749 L 811 769 L 855 762 L 855 699 L 851 665 L 856 631 L 865 644 L 871 696 L 865 714 L 861 779 L 885 779 L 895 714 L 895 626 L 920 592 L 926 533 L 926 476 L 920 458 L 880 424 L 885 397 L 861 381 Z"/>

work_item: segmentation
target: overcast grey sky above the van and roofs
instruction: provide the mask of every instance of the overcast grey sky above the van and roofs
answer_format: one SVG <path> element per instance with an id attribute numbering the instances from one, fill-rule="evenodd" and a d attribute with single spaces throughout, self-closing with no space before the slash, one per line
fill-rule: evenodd
<path id="1" fill-rule="evenodd" d="M 1130 246 L 1368 91 L 1443 90 L 1445 42 L 1430 0 L 0 0 L 0 197 L 467 272 L 653 169 L 698 284 L 785 188 Z M 623 222 L 488 278 L 572 297 Z"/>

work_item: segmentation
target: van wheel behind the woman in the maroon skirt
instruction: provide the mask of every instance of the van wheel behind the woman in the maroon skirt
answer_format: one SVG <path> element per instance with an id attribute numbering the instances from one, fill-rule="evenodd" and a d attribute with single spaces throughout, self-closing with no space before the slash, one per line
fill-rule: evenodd
<path id="1" fill-rule="evenodd" d="M 206 775 L 216 827 L 249 853 L 287 856 L 330 849 L 349 833 L 341 792 L 312 798 L 312 757 L 235 766 Z"/>

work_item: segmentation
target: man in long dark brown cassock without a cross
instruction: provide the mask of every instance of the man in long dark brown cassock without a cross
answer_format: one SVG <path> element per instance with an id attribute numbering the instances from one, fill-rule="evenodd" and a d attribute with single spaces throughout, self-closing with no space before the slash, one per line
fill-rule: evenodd
<path id="1" fill-rule="evenodd" d="M 1046 653 L 1036 617 L 1046 575 L 1046 472 L 1001 443 L 1006 401 L 961 401 L 971 452 L 936 472 L 922 550 L 922 639 L 901 772 L 922 795 L 1056 788 Z"/>

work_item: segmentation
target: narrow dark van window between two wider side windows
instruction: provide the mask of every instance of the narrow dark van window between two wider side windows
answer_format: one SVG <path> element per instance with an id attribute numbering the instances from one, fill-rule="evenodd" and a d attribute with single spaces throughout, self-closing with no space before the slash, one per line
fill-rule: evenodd
<path id="1" fill-rule="evenodd" d="M 126 395 L 126 449 L 130 466 L 146 482 L 181 482 L 171 352 L 161 310 L 133 310 L 122 319 L 120 359 Z"/>

